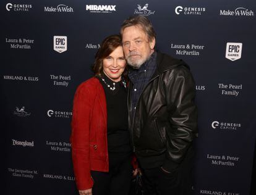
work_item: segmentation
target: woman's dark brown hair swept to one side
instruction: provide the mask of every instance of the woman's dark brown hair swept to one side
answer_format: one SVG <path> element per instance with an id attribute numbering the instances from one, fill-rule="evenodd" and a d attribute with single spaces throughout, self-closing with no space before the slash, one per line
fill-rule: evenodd
<path id="1" fill-rule="evenodd" d="M 108 57 L 119 46 L 122 46 L 121 36 L 119 35 L 110 35 L 102 41 L 100 49 L 96 52 L 92 68 L 95 77 L 101 77 L 103 73 L 103 59 Z"/>

